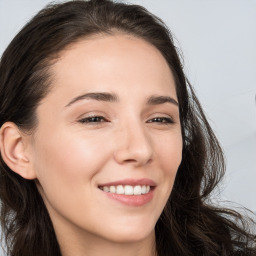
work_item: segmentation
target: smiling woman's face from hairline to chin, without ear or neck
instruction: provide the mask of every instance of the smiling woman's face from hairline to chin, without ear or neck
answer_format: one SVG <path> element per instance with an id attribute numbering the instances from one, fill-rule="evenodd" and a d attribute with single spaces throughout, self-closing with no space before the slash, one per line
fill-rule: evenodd
<path id="1" fill-rule="evenodd" d="M 31 159 L 57 236 L 152 236 L 182 155 L 165 59 L 141 39 L 98 35 L 63 51 L 51 73 Z"/>

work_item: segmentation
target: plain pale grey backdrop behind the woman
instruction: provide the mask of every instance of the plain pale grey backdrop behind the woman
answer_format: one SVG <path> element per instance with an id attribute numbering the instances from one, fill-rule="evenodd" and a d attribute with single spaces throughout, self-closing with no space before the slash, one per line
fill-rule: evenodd
<path id="1" fill-rule="evenodd" d="M 48 0 L 0 0 L 0 54 Z M 59 1 L 56 1 L 59 2 Z M 130 0 L 174 33 L 186 74 L 219 138 L 219 191 L 256 212 L 256 0 Z"/>

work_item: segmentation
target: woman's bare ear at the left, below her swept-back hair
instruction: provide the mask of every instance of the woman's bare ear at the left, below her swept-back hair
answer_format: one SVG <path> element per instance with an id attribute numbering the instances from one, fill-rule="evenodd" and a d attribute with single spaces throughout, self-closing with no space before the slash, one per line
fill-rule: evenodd
<path id="1" fill-rule="evenodd" d="M 0 129 L 0 151 L 6 165 L 24 179 L 35 179 L 28 152 L 28 136 L 12 122 L 6 122 Z"/>

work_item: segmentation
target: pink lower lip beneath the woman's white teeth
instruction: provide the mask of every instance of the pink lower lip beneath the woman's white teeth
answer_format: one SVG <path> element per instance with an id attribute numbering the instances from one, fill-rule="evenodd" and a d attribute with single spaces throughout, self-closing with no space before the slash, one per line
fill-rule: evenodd
<path id="1" fill-rule="evenodd" d="M 153 199 L 154 190 L 150 190 L 147 194 L 142 195 L 122 195 L 104 192 L 110 199 L 116 200 L 127 206 L 143 206 Z"/>

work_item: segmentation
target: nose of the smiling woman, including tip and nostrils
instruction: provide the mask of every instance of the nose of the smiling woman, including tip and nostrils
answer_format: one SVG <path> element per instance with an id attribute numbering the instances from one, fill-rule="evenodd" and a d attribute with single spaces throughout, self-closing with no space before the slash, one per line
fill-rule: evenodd
<path id="1" fill-rule="evenodd" d="M 126 124 L 117 132 L 114 158 L 119 164 L 143 166 L 152 161 L 153 147 L 145 127 Z"/>

